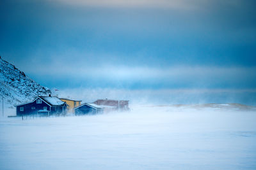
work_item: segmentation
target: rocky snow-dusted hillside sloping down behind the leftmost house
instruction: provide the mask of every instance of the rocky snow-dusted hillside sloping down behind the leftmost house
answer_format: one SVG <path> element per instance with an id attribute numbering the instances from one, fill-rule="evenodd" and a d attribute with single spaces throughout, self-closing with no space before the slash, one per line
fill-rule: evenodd
<path id="1" fill-rule="evenodd" d="M 26 76 L 12 64 L 0 57 L 0 95 L 8 105 L 23 103 L 40 95 L 51 93 L 47 87 Z"/>

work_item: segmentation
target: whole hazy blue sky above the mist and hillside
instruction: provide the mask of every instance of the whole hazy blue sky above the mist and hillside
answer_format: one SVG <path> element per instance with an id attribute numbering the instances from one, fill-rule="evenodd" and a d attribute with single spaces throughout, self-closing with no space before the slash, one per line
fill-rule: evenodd
<path id="1" fill-rule="evenodd" d="M 0 4 L 0 55 L 50 88 L 256 89 L 254 0 Z"/>

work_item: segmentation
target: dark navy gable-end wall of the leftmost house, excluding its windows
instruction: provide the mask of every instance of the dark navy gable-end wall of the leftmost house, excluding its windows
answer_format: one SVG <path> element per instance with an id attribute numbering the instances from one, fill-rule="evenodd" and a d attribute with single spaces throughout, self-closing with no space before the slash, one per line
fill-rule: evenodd
<path id="1" fill-rule="evenodd" d="M 24 111 L 20 111 L 20 107 L 24 108 Z M 35 110 L 32 110 L 32 107 L 35 107 Z M 44 110 L 44 107 L 47 107 L 47 110 L 50 110 L 50 106 L 46 104 L 44 101 L 42 103 L 36 104 L 36 100 L 33 103 L 23 104 L 16 107 L 16 114 L 20 115 L 29 115 L 36 114 L 38 110 Z"/>

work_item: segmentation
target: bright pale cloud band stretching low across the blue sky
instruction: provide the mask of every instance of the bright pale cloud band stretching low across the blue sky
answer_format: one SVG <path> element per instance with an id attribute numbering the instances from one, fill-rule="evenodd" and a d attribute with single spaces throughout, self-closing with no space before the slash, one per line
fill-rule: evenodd
<path id="1" fill-rule="evenodd" d="M 90 64 L 92 63 L 92 64 Z M 256 67 L 240 66 L 193 66 L 174 65 L 168 67 L 154 66 L 128 66 L 118 64 L 94 63 L 91 60 L 74 60 L 73 63 L 51 62 L 47 67 L 31 66 L 26 70 L 29 73 L 47 74 L 49 76 L 65 74 L 66 76 L 88 77 L 111 77 L 111 79 L 151 79 L 151 78 L 189 78 L 189 77 L 215 77 L 215 78 L 241 78 L 243 76 L 255 78 Z"/>

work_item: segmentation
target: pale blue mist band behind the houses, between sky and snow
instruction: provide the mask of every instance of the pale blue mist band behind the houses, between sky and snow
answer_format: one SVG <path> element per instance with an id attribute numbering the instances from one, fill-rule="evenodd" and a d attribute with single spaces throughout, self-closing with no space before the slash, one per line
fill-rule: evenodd
<path id="1" fill-rule="evenodd" d="M 52 89 L 54 91 L 54 89 Z M 97 99 L 129 100 L 132 106 L 159 104 L 240 103 L 255 106 L 253 89 L 61 89 L 53 95 L 93 102 Z"/>

